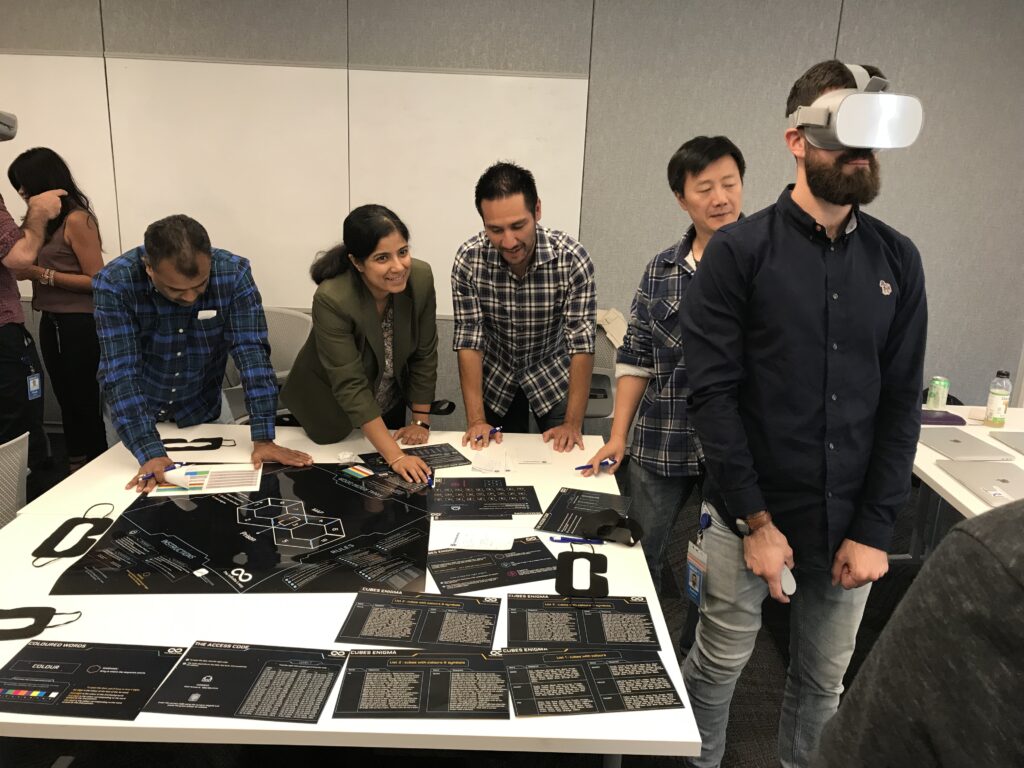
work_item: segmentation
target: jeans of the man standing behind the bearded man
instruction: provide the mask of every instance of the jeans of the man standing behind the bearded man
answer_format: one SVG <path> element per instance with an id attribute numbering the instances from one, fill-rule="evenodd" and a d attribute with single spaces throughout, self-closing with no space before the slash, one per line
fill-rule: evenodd
<path id="1" fill-rule="evenodd" d="M 699 477 L 662 477 L 632 459 L 629 472 L 632 499 L 629 515 L 643 527 L 643 554 L 650 578 L 654 580 L 654 591 L 660 597 L 662 568 L 672 528 Z"/>

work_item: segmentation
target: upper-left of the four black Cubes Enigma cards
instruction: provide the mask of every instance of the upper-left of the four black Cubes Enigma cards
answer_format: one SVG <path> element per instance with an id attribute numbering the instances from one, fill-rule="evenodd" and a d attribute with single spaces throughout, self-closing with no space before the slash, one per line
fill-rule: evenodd
<path id="1" fill-rule="evenodd" d="M 355 596 L 335 642 L 489 651 L 501 604 L 498 597 L 364 590 Z"/>

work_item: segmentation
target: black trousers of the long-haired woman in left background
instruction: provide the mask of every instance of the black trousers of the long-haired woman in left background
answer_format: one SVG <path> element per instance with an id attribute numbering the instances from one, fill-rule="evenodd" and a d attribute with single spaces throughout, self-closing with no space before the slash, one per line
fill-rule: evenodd
<path id="1" fill-rule="evenodd" d="M 39 347 L 60 403 L 68 456 L 91 461 L 106 450 L 96 382 L 99 339 L 92 314 L 43 312 Z"/>

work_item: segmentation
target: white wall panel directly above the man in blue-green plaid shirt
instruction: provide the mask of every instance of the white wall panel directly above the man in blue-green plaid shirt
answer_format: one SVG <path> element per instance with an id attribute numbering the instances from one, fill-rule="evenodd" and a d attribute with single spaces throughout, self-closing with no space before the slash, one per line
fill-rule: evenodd
<path id="1" fill-rule="evenodd" d="M 249 258 L 267 305 L 307 308 L 348 211 L 344 70 L 108 59 L 125 249 L 174 213 Z"/>

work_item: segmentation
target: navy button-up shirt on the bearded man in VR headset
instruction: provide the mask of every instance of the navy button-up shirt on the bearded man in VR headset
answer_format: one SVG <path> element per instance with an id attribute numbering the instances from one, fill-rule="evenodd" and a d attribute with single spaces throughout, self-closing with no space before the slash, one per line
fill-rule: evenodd
<path id="1" fill-rule="evenodd" d="M 854 210 L 829 241 L 793 202 L 722 227 L 683 302 L 690 414 L 706 495 L 727 520 L 761 509 L 797 565 L 844 539 L 888 549 L 921 430 L 921 255 Z"/>

